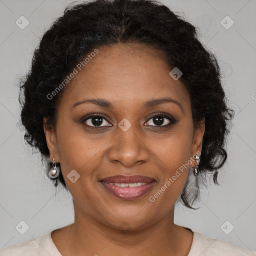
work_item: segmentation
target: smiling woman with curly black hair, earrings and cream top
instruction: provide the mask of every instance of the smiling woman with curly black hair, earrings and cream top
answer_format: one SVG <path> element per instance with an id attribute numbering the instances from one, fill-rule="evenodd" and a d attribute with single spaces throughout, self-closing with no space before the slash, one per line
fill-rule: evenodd
<path id="1" fill-rule="evenodd" d="M 0 255 L 254 255 L 173 222 L 205 174 L 217 183 L 225 99 L 214 55 L 166 6 L 67 7 L 34 51 L 20 103 L 25 139 L 70 191 L 74 223 Z"/>

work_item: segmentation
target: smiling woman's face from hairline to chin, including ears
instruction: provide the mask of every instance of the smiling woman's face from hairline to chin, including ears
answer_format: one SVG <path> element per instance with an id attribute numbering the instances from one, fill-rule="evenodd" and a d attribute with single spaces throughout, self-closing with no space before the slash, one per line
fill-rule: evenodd
<path id="1" fill-rule="evenodd" d="M 66 85 L 56 131 L 44 126 L 44 132 L 50 159 L 60 162 L 75 214 L 116 228 L 128 222 L 136 229 L 173 210 L 188 165 L 196 166 L 189 160 L 201 152 L 204 122 L 194 129 L 189 94 L 169 75 L 171 69 L 158 49 L 118 43 L 99 47 Z M 160 98 L 170 99 L 152 101 Z M 115 175 L 150 180 L 140 187 L 109 184 L 127 183 L 123 180 L 108 180 L 105 186 L 102 180 Z"/>

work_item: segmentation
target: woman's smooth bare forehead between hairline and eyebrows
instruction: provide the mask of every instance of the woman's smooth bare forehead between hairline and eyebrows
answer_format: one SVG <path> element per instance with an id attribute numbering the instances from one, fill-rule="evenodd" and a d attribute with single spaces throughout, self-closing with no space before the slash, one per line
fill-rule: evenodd
<path id="1" fill-rule="evenodd" d="M 113 104 L 126 104 L 171 96 L 190 104 L 185 86 L 169 75 L 172 68 L 163 51 L 139 43 L 104 45 L 97 50 L 80 70 L 76 68 L 78 73 L 63 95 L 65 102 L 104 97 Z"/>

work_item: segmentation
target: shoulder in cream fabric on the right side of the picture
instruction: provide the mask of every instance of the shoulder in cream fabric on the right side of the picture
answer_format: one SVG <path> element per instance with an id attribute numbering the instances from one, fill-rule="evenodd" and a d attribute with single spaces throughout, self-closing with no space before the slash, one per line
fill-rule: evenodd
<path id="1" fill-rule="evenodd" d="M 255 256 L 256 252 L 233 245 L 232 243 L 208 238 L 193 231 L 193 241 L 188 256 Z"/>

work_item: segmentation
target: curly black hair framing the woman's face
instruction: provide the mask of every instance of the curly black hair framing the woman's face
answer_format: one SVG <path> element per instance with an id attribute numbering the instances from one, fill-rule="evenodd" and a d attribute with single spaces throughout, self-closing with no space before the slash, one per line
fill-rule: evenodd
<path id="1" fill-rule="evenodd" d="M 144 43 L 161 49 L 168 65 L 182 71 L 179 80 L 190 95 L 194 127 L 205 118 L 198 175 L 215 171 L 213 181 L 218 184 L 217 169 L 227 157 L 224 147 L 234 110 L 227 108 L 217 59 L 199 42 L 196 29 L 154 0 L 93 0 L 68 5 L 43 34 L 33 52 L 30 70 L 19 82 L 24 139 L 39 150 L 42 159 L 48 159 L 43 117 L 55 130 L 57 103 L 66 87 L 54 97 L 47 95 L 52 95 L 70 70 L 96 47 Z M 47 171 L 49 167 L 50 162 Z M 55 186 L 57 180 L 66 188 L 61 168 Z M 194 209 L 187 184 L 180 198 L 185 206 Z"/>

